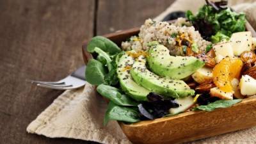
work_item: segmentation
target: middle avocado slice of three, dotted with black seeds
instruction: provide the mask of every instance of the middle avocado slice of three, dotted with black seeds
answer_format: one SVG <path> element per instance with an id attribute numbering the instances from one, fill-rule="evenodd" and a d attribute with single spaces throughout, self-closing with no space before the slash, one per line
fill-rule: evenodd
<path id="1" fill-rule="evenodd" d="M 146 67 L 144 56 L 139 56 L 132 65 L 131 76 L 136 83 L 150 92 L 156 92 L 166 97 L 179 98 L 195 94 L 195 91 L 191 90 L 182 80 L 160 77 L 150 72 Z"/>

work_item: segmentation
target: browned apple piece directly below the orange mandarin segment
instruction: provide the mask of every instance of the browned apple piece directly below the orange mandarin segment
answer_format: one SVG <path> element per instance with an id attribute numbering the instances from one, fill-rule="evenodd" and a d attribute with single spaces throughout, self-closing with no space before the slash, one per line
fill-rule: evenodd
<path id="1" fill-rule="evenodd" d="M 220 99 L 233 99 L 234 91 L 232 92 L 223 92 L 220 88 L 214 87 L 210 90 L 210 95 L 212 97 L 218 97 Z"/>

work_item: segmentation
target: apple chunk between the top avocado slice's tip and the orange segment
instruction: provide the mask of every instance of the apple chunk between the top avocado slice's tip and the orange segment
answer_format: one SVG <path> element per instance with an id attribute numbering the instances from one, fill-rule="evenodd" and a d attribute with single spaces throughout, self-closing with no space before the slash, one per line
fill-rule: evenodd
<path id="1" fill-rule="evenodd" d="M 196 70 L 194 74 L 192 74 L 193 79 L 196 83 L 205 83 L 207 81 L 211 81 L 212 79 L 212 68 L 202 67 Z"/>

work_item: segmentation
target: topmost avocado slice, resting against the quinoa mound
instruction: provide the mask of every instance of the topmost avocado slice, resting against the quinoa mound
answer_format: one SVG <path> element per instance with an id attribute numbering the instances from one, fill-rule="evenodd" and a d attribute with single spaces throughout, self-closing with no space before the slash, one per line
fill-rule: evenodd
<path id="1" fill-rule="evenodd" d="M 204 66 L 193 56 L 170 56 L 168 48 L 160 44 L 152 45 L 148 53 L 148 67 L 159 76 L 183 79 Z"/>

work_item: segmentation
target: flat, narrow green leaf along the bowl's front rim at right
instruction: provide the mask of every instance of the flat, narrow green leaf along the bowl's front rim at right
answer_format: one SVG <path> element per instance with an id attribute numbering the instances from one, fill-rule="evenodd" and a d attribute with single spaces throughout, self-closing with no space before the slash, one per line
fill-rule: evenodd
<path id="1" fill-rule="evenodd" d="M 193 110 L 204 110 L 204 111 L 213 111 L 216 108 L 228 108 L 237 102 L 241 102 L 241 99 L 234 99 L 234 100 L 216 100 L 215 102 L 212 102 L 207 105 L 197 106 Z"/>

